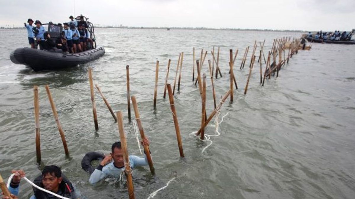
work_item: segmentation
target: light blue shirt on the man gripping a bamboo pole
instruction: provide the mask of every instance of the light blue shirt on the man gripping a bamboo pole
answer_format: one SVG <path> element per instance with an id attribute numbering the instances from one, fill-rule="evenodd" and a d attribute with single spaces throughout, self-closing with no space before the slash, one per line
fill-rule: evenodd
<path id="1" fill-rule="evenodd" d="M 136 155 L 130 155 L 129 160 L 130 160 L 130 166 L 132 169 L 136 166 L 148 165 L 147 156 L 144 156 L 144 158 L 140 158 Z M 106 176 L 120 178 L 121 172 L 124 170 L 125 170 L 125 167 L 118 168 L 113 164 L 113 162 L 111 162 L 111 163 L 105 165 L 102 168 L 102 171 L 95 169 L 89 178 L 89 182 L 91 184 L 95 184 L 95 183 L 99 182 L 100 180 L 102 180 L 103 178 L 105 178 Z"/>

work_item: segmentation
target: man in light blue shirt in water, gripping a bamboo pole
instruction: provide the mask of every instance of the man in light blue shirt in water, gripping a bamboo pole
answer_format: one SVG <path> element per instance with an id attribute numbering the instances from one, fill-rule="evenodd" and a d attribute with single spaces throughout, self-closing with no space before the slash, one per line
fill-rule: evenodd
<path id="1" fill-rule="evenodd" d="M 143 146 L 149 146 L 149 140 L 144 138 L 141 141 Z M 125 170 L 124 152 L 121 147 L 121 142 L 115 142 L 112 144 L 111 153 L 106 155 L 101 161 L 100 165 L 96 167 L 94 172 L 89 178 L 91 184 L 97 183 L 106 176 L 120 178 L 121 172 Z M 111 160 L 113 160 L 111 162 Z M 148 165 L 147 157 L 140 158 L 136 155 L 130 155 L 130 166 L 133 169 L 136 166 Z"/>

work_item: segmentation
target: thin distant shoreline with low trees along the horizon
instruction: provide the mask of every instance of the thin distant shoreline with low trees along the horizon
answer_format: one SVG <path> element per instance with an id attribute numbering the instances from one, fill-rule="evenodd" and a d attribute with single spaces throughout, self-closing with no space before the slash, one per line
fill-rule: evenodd
<path id="1" fill-rule="evenodd" d="M 304 30 L 273 30 L 273 29 L 242 29 L 242 28 L 190 28 L 190 27 L 113 27 L 113 26 L 95 26 L 95 28 L 105 28 L 105 29 L 169 29 L 169 30 L 236 30 L 236 31 L 266 31 L 266 32 L 307 32 Z M 13 27 L 5 28 L 0 27 L 0 30 L 26 30 L 24 27 Z"/>

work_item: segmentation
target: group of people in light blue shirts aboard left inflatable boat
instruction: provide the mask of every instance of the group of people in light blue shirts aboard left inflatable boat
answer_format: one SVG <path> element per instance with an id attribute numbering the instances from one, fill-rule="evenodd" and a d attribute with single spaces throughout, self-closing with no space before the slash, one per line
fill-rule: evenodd
<path id="1" fill-rule="evenodd" d="M 35 22 L 29 18 L 24 26 L 27 29 L 28 42 L 31 48 L 40 50 L 60 49 L 62 52 L 77 53 L 93 48 L 93 39 L 91 39 L 88 30 L 87 21 L 81 15 L 80 19 L 76 20 L 70 16 L 70 21 L 63 24 L 54 24 L 49 22 L 49 31 L 46 31 L 39 20 Z M 34 26 L 33 26 L 34 22 Z M 63 26 L 62 26 L 63 25 Z M 60 32 L 62 30 L 62 32 Z M 60 36 L 56 39 L 51 38 L 51 33 L 60 32 Z"/>

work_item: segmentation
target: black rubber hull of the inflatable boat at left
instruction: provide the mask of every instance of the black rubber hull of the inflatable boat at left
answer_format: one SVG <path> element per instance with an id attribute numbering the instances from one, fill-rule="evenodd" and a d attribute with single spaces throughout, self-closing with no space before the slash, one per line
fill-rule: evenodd
<path id="1" fill-rule="evenodd" d="M 47 50 L 18 48 L 10 54 L 10 59 L 15 64 L 24 64 L 33 70 L 56 70 L 74 67 L 78 64 L 91 62 L 105 54 L 103 47 L 79 53 L 62 53 Z"/>

